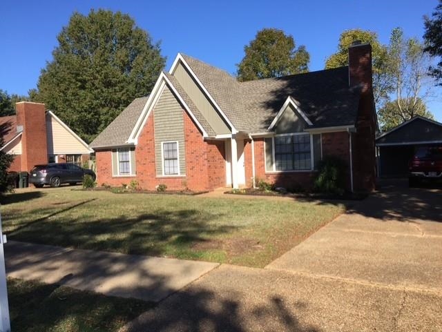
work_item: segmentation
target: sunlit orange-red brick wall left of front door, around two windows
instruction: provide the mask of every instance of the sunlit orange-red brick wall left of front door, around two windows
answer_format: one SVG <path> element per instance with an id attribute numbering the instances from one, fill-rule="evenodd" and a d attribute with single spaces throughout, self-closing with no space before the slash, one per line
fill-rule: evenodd
<path id="1" fill-rule="evenodd" d="M 97 182 L 111 186 L 129 184 L 136 179 L 141 188 L 155 190 L 158 184 L 165 184 L 167 190 L 181 191 L 186 188 L 191 191 L 207 191 L 225 186 L 226 173 L 224 161 L 224 141 L 204 141 L 202 134 L 192 119 L 183 110 L 184 117 L 184 146 L 186 155 L 185 176 L 160 177 L 155 171 L 155 111 L 140 133 L 135 147 L 136 172 L 135 177 L 113 177 L 111 150 L 97 151 Z M 184 172 L 183 172 L 184 173 Z"/>

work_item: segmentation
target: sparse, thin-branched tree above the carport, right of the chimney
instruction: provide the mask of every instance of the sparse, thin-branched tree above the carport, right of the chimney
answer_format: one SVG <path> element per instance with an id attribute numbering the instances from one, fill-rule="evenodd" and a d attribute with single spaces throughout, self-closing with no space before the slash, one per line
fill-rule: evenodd
<path id="1" fill-rule="evenodd" d="M 416 38 L 405 38 L 401 28 L 392 30 L 388 46 L 388 68 L 394 86 L 395 107 L 386 104 L 383 112 L 394 114 L 383 118 L 407 121 L 414 115 L 432 117 L 425 108 L 425 100 L 430 96 L 427 75 L 429 64 L 430 59 L 424 52 L 423 43 Z"/>

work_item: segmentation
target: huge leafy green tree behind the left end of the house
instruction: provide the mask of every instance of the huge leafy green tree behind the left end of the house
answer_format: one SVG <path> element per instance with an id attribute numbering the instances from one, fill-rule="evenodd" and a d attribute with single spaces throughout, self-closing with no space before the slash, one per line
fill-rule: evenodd
<path id="1" fill-rule="evenodd" d="M 32 100 L 90 141 L 135 97 L 147 95 L 164 68 L 160 43 L 127 14 L 75 12 L 57 37 L 53 59 L 41 70 Z"/>

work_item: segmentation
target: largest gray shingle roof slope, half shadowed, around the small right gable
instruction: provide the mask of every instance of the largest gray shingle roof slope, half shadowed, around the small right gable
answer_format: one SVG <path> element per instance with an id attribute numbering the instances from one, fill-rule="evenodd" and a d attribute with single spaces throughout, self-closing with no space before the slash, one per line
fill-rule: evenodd
<path id="1" fill-rule="evenodd" d="M 345 126 L 356 121 L 360 89 L 349 88 L 348 67 L 238 82 L 224 70 L 183 57 L 238 130 L 267 130 L 289 96 L 300 103 L 312 127 Z"/>

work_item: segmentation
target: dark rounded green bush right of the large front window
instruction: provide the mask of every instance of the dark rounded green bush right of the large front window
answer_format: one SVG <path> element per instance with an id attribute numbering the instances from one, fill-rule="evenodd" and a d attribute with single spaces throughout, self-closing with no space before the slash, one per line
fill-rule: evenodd
<path id="1" fill-rule="evenodd" d="M 345 169 L 347 164 L 335 156 L 327 156 L 319 163 L 314 191 L 342 195 L 345 192 Z"/>

